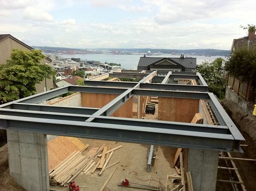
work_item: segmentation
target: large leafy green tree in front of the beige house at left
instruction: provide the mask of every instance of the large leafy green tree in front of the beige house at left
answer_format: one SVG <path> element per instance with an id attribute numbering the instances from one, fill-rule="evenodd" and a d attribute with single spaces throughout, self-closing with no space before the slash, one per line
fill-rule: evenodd
<path id="1" fill-rule="evenodd" d="M 0 103 L 8 103 L 35 94 L 35 85 L 50 78 L 51 66 L 40 64 L 40 50 L 12 50 L 10 59 L 0 65 Z"/>

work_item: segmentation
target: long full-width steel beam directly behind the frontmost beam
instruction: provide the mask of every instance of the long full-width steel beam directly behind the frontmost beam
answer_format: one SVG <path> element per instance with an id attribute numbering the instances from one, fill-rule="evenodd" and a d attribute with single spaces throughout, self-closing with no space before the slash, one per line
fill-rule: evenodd
<path id="1" fill-rule="evenodd" d="M 0 108 L 0 114 L 10 115 L 16 117 L 32 117 L 43 119 L 56 119 L 56 120 L 73 120 L 73 121 L 85 121 L 89 118 L 93 118 L 92 122 L 102 124 L 116 124 L 116 125 L 129 125 L 138 127 L 153 127 L 161 129 L 174 129 L 180 131 L 193 131 L 215 134 L 231 134 L 226 126 L 214 126 L 203 124 L 189 124 L 185 122 L 174 121 L 155 121 L 155 120 L 142 120 L 142 119 L 129 119 L 120 117 L 105 117 L 86 114 L 73 114 L 73 113 L 57 113 L 57 112 L 44 112 L 33 110 L 12 110 Z M 217 137 L 218 138 L 218 137 Z"/>

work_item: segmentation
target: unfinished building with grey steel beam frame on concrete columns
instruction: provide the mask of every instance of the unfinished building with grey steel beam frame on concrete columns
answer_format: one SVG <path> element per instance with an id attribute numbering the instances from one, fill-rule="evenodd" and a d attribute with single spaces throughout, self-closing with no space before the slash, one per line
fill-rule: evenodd
<path id="1" fill-rule="evenodd" d="M 106 73 L 0 105 L 0 128 L 25 190 L 246 190 L 245 139 L 196 72 Z"/>

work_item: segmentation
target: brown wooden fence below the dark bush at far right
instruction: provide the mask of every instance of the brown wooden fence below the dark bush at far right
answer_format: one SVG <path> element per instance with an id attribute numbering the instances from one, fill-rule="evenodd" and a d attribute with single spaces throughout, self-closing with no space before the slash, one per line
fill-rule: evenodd
<path id="1" fill-rule="evenodd" d="M 251 93 L 251 86 L 252 86 L 251 81 L 250 82 L 242 82 L 237 78 L 228 76 L 227 82 L 228 82 L 228 86 L 230 86 L 231 90 L 234 90 L 244 100 L 250 101 L 250 93 Z"/>

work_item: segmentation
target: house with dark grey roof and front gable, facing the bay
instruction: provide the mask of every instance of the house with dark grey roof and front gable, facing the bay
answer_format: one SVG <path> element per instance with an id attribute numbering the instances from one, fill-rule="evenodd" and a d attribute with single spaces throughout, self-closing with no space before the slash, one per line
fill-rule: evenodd
<path id="1" fill-rule="evenodd" d="M 168 70 L 192 72 L 197 67 L 197 58 L 140 57 L 138 70 Z"/>

